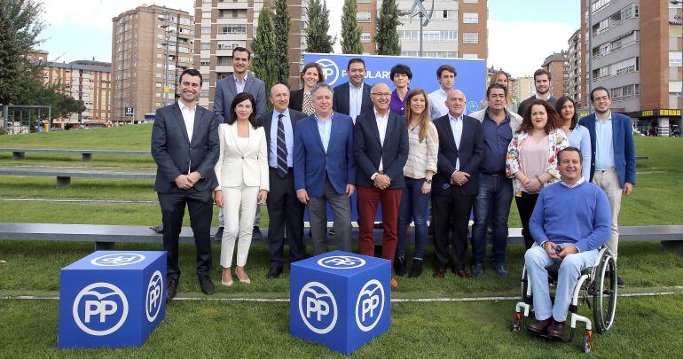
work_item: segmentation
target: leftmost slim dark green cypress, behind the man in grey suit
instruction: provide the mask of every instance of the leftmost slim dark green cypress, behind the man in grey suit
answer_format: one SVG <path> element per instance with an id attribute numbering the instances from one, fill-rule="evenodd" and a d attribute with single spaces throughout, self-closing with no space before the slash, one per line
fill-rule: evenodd
<path id="1" fill-rule="evenodd" d="M 254 52 L 252 71 L 265 82 L 266 90 L 271 90 L 272 85 L 278 82 L 277 74 L 273 71 L 278 66 L 278 55 L 273 35 L 272 12 L 268 7 L 264 7 L 258 15 L 258 28 L 251 50 Z"/>

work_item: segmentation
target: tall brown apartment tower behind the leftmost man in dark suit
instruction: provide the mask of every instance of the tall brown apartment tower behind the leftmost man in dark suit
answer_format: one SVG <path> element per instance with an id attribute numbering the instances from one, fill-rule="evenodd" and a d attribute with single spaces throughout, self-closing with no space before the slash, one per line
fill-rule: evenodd
<path id="1" fill-rule="evenodd" d="M 194 21 L 189 12 L 143 5 L 112 22 L 112 121 L 140 122 L 179 96 L 178 76 L 193 67 Z"/>

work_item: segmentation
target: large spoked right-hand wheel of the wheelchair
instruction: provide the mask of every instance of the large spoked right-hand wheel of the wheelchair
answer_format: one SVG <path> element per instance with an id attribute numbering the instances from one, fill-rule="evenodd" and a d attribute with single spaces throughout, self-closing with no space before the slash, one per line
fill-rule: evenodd
<path id="1" fill-rule="evenodd" d="M 605 253 L 593 280 L 593 318 L 598 332 L 607 332 L 616 316 L 616 262 Z"/>

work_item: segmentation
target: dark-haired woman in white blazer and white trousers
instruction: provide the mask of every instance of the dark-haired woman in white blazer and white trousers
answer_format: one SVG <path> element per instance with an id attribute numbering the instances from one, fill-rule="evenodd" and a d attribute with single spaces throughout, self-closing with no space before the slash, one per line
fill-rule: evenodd
<path id="1" fill-rule="evenodd" d="M 216 204 L 222 208 L 225 230 L 221 241 L 221 284 L 232 285 L 232 253 L 237 239 L 239 282 L 251 281 L 244 271 L 256 214 L 256 204 L 268 196 L 268 150 L 265 131 L 255 118 L 255 100 L 239 93 L 231 105 L 231 116 L 218 126 L 221 153 L 216 163 Z M 239 207 L 241 205 L 241 216 Z"/>

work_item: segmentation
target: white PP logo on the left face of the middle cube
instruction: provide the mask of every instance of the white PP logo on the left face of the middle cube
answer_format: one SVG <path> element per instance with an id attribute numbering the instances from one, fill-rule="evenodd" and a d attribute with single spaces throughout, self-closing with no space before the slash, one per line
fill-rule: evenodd
<path id="1" fill-rule="evenodd" d="M 299 314 L 303 323 L 318 334 L 325 334 L 337 324 L 337 301 L 326 285 L 310 282 L 299 293 Z"/>

